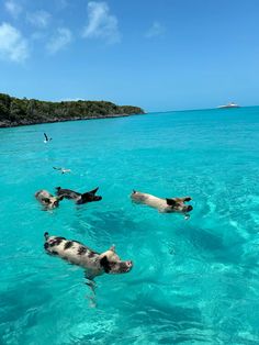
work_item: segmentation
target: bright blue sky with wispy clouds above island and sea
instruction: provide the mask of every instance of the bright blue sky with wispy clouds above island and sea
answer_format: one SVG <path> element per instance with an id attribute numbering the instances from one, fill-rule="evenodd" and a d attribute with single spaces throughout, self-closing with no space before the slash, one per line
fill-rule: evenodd
<path id="1" fill-rule="evenodd" d="M 146 111 L 259 104 L 258 0 L 0 0 L 0 92 Z"/>

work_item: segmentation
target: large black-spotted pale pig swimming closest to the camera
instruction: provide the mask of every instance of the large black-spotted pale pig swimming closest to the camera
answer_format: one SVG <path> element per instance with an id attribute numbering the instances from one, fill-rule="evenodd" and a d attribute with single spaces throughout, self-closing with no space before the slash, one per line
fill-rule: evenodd
<path id="1" fill-rule="evenodd" d="M 65 237 L 49 236 L 44 234 L 44 248 L 48 254 L 57 255 L 71 264 L 79 265 L 86 269 L 88 279 L 93 279 L 102 274 L 125 274 L 128 272 L 133 263 L 122 261 L 112 246 L 104 253 L 97 253 L 77 241 L 69 241 Z"/>

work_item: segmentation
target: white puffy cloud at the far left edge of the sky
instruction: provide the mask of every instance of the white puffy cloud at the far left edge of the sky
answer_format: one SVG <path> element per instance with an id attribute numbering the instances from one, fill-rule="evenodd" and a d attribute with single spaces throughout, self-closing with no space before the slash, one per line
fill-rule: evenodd
<path id="1" fill-rule="evenodd" d="M 15 63 L 22 63 L 29 57 L 26 40 L 8 23 L 0 25 L 0 57 Z"/>

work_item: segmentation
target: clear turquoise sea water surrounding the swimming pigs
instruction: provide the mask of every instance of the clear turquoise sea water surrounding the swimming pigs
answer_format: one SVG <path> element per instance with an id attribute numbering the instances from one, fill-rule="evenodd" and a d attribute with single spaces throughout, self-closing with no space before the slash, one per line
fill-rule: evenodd
<path id="1" fill-rule="evenodd" d="M 0 343 L 258 344 L 258 143 L 259 108 L 0 130 Z M 34 192 L 56 186 L 99 186 L 103 200 L 42 211 Z M 191 219 L 132 204 L 133 188 L 192 196 Z M 82 269 L 44 253 L 45 231 L 115 244 L 134 268 L 97 278 L 91 308 Z"/>

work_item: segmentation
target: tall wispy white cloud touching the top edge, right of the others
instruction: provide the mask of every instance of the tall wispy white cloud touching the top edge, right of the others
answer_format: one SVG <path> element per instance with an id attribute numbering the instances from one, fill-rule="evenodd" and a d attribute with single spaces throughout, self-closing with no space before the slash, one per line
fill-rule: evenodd
<path id="1" fill-rule="evenodd" d="M 88 3 L 88 25 L 82 35 L 87 38 L 103 38 L 106 43 L 121 41 L 117 19 L 110 13 L 106 2 L 90 1 Z"/>

